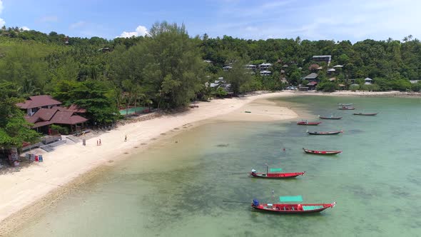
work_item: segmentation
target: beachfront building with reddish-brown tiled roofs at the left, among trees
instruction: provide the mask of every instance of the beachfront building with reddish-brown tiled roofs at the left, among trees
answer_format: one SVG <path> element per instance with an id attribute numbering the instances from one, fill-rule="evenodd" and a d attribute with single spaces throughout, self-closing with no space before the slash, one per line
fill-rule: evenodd
<path id="1" fill-rule="evenodd" d="M 86 110 L 76 105 L 69 107 L 59 106 L 60 101 L 51 96 L 30 96 L 24 103 L 18 103 L 20 109 L 26 111 L 25 120 L 34 123 L 34 128 L 39 133 L 51 133 L 51 125 L 67 126 L 70 131 L 78 131 L 78 128 L 85 126 L 88 119 L 80 114 Z"/>

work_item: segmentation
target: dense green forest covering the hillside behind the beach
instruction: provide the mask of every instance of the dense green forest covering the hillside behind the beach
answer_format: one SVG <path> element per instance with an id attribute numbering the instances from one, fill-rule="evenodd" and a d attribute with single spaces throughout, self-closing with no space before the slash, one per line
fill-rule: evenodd
<path id="1" fill-rule="evenodd" d="M 184 25 L 166 21 L 154 24 L 149 32 L 108 40 L 3 27 L 0 81 L 15 84 L 20 98 L 50 94 L 64 104 L 86 106 L 91 119 L 99 123 L 117 119 L 113 115 L 125 106 L 176 109 L 215 94 L 298 86 L 318 67 L 323 70 L 316 71 L 317 89 L 323 91 L 340 85 L 350 89 L 351 84 L 354 89 L 373 91 L 421 88 L 420 83 L 410 83 L 421 78 L 421 42 L 412 36 L 355 44 L 300 37 L 212 39 L 207 34 L 189 36 Z M 331 55 L 330 65 L 313 61 L 315 55 Z M 263 63 L 270 63 L 270 74 L 244 68 L 245 64 Z M 329 74 L 327 69 L 335 65 L 341 68 Z M 224 71 L 224 66 L 229 70 Z M 219 77 L 230 86 L 210 88 Z M 373 84 L 364 84 L 365 78 Z M 92 96 L 98 96 L 96 102 L 101 101 L 104 108 Z"/>

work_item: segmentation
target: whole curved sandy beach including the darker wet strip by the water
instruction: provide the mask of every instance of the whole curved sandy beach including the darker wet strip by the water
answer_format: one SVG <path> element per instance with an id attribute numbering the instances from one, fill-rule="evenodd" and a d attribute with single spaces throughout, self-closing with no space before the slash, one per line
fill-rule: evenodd
<path id="1" fill-rule="evenodd" d="M 283 91 L 199 102 L 199 108 L 118 126 L 112 131 L 86 139 L 86 146 L 81 143 L 66 144 L 50 153 L 33 150 L 32 153 L 43 155 L 43 163 L 12 168 L 10 172 L 0 175 L 0 236 L 10 234 L 47 211 L 46 208 L 61 196 L 84 183 L 86 177 L 92 177 L 94 173 L 113 166 L 116 161 L 128 158 L 128 154 L 148 148 L 160 137 L 168 138 L 213 118 L 226 121 L 278 121 L 297 117 L 290 109 L 265 102 L 266 99 L 285 96 L 294 94 Z M 253 106 L 253 101 L 258 101 L 258 106 Z M 125 142 L 126 135 L 128 141 Z M 96 146 L 98 139 L 101 139 L 102 146 Z"/>

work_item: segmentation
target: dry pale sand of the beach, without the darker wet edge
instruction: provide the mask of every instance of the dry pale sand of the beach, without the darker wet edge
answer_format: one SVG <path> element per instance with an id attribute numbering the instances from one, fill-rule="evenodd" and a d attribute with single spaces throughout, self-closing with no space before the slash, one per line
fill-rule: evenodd
<path id="1" fill-rule="evenodd" d="M 63 145 L 51 153 L 37 150 L 36 153 L 43 155 L 44 162 L 35 162 L 28 167 L 21 167 L 19 172 L 0 175 L 0 221 L 40 200 L 50 191 L 69 183 L 81 174 L 101 164 L 107 164 L 109 161 L 124 158 L 127 156 L 125 153 L 133 152 L 135 146 L 150 143 L 151 140 L 163 136 L 161 133 L 171 131 L 173 128 L 182 130 L 186 123 L 194 123 L 230 112 L 231 117 L 221 116 L 221 119 L 246 121 L 293 119 L 297 116 L 293 111 L 274 106 L 269 101 L 259 100 L 258 104 L 250 104 L 256 99 L 291 95 L 293 95 L 291 92 L 278 92 L 201 102 L 198 104 L 199 108 L 181 114 L 119 126 L 113 131 L 103 133 L 100 137 L 86 140 L 86 146 L 82 146 L 81 143 Z M 251 111 L 251 113 L 244 111 Z M 124 142 L 125 135 L 128 136 L 127 142 Z M 96 146 L 99 138 L 101 138 L 102 146 Z"/>

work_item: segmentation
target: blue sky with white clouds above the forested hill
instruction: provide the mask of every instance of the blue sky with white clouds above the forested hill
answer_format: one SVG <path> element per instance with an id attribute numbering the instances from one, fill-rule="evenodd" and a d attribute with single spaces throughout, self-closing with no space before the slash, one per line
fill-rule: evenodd
<path id="1" fill-rule="evenodd" d="M 143 35 L 156 21 L 184 23 L 191 36 L 243 39 L 421 37 L 421 1 L 410 0 L 0 0 L 0 26 L 69 36 Z"/>

